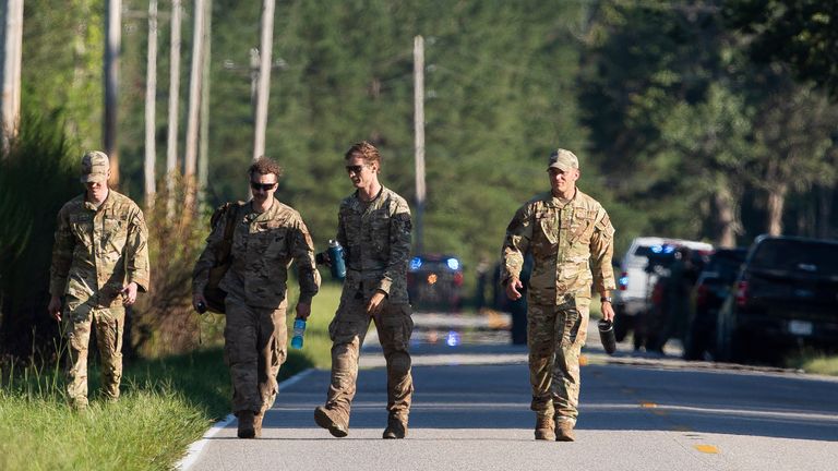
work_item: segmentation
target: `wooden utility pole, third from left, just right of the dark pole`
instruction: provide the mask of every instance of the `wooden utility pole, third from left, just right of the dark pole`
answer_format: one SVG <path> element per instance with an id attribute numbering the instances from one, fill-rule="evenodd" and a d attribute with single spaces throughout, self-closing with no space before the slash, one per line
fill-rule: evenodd
<path id="1" fill-rule="evenodd" d="M 155 182 L 155 164 L 157 148 L 155 143 L 157 95 L 157 0 L 148 2 L 148 59 L 145 70 L 145 207 L 154 207 L 157 193 Z"/>

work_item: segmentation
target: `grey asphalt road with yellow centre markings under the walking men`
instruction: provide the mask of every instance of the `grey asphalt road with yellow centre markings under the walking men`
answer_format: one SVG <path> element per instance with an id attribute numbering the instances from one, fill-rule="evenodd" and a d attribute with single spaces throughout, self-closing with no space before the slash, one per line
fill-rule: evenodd
<path id="1" fill-rule="evenodd" d="M 383 440 L 386 377 L 374 338 L 361 357 L 349 436 L 312 419 L 328 372 L 280 390 L 263 437 L 211 432 L 189 470 L 835 470 L 838 379 L 585 349 L 575 443 L 532 439 L 526 350 L 479 323 L 417 315 L 416 392 L 405 440 Z M 491 323 L 488 323 L 491 324 Z M 469 325 L 471 327 L 469 327 Z M 435 335 L 433 333 L 436 333 Z M 460 336 L 450 335 L 458 333 Z M 435 340 L 435 341 L 432 341 Z M 465 340 L 458 345 L 455 340 Z"/>

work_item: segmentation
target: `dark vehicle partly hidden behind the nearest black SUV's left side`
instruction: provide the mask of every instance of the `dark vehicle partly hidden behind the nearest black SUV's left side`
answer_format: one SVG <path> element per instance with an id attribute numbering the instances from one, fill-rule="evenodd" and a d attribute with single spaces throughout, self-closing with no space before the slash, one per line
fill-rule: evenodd
<path id="1" fill-rule="evenodd" d="M 690 328 L 684 341 L 684 359 L 701 360 L 713 353 L 716 317 L 745 261 L 747 249 L 718 249 L 698 274 L 691 295 Z"/>

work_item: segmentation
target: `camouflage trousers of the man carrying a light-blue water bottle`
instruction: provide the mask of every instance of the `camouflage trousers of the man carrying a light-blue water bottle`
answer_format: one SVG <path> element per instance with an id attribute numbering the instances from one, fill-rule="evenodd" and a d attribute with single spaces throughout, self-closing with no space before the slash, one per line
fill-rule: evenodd
<path id="1" fill-rule="evenodd" d="M 277 309 L 253 307 L 227 295 L 224 359 L 232 381 L 232 411 L 261 414 L 274 404 L 276 375 L 288 353 L 287 301 Z"/>

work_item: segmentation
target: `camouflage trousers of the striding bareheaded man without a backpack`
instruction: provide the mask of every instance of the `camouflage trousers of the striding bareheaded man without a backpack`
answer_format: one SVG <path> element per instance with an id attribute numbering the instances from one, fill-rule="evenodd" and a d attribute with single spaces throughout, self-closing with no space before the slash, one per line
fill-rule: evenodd
<path id="1" fill-rule="evenodd" d="M 349 420 L 358 379 L 358 355 L 370 322 L 375 323 L 379 341 L 387 364 L 387 411 L 407 423 L 414 379 L 410 375 L 408 345 L 414 329 L 410 304 L 390 304 L 375 316 L 367 313 L 363 297 L 344 292 L 335 318 L 328 326 L 332 338 L 332 384 L 328 387 L 326 408 L 337 410 Z"/>

